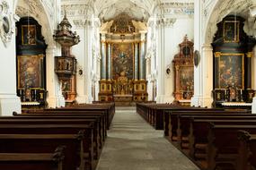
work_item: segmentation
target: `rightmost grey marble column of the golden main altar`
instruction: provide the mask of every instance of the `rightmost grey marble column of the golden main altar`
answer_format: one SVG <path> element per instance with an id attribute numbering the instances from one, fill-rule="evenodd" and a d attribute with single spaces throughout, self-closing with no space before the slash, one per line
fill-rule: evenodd
<path id="1" fill-rule="evenodd" d="M 146 80 L 145 48 L 145 40 L 142 40 L 139 47 L 139 80 Z"/>

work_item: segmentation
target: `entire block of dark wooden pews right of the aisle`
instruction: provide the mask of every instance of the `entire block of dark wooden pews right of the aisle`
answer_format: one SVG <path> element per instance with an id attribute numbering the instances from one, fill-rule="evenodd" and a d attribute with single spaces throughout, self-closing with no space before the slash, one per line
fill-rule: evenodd
<path id="1" fill-rule="evenodd" d="M 256 115 L 251 111 L 137 104 L 137 113 L 155 129 L 163 129 L 201 169 L 256 169 Z"/>

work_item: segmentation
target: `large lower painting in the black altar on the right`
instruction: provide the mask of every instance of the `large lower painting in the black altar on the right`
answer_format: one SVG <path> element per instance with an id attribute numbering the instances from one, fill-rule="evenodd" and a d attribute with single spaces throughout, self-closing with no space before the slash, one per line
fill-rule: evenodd
<path id="1" fill-rule="evenodd" d="M 219 89 L 243 89 L 243 54 L 221 54 L 218 72 Z"/>

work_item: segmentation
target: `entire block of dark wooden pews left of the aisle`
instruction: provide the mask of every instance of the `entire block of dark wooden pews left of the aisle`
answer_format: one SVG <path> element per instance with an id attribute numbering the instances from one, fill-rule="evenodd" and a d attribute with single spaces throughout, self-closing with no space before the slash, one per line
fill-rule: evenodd
<path id="1" fill-rule="evenodd" d="M 0 117 L 0 169 L 94 170 L 114 104 L 27 110 Z"/>

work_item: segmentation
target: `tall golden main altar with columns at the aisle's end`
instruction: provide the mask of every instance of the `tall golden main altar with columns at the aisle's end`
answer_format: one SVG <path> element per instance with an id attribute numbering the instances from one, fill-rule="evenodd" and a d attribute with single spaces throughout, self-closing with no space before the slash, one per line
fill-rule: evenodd
<path id="1" fill-rule="evenodd" d="M 99 100 L 132 106 L 146 101 L 146 32 L 121 13 L 101 32 L 102 61 Z M 108 25 L 109 24 L 109 25 Z"/>

